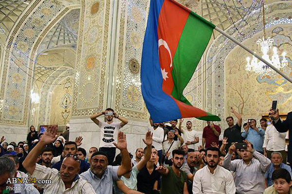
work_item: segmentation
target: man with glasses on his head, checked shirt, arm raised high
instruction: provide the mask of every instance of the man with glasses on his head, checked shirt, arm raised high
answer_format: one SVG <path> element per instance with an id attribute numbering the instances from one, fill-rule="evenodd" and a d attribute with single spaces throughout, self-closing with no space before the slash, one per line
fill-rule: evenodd
<path id="1" fill-rule="evenodd" d="M 91 184 L 79 178 L 80 161 L 77 155 L 66 155 L 62 162 L 60 172 L 56 169 L 47 168 L 36 164 L 37 158 L 42 149 L 47 144 L 52 144 L 57 139 L 56 126 L 49 126 L 47 132 L 43 134 L 38 144 L 29 152 L 23 167 L 29 173 L 31 178 L 37 180 L 51 180 L 50 184 L 42 184 L 40 188 L 44 189 L 44 194 L 96 194 Z"/>

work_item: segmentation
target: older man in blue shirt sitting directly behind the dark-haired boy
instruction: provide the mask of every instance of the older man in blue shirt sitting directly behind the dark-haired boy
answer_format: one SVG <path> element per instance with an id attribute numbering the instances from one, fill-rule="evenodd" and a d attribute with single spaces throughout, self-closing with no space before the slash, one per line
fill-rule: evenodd
<path id="1" fill-rule="evenodd" d="M 271 156 L 271 161 L 273 164 L 270 166 L 270 168 L 267 170 L 267 172 L 265 174 L 265 183 L 267 184 L 266 185 L 267 187 L 270 187 L 273 185 L 272 174 L 273 174 L 274 170 L 276 170 L 278 168 L 285 168 L 292 176 L 290 166 L 282 163 L 283 157 L 282 157 L 282 154 L 280 152 L 273 152 L 272 156 Z"/>

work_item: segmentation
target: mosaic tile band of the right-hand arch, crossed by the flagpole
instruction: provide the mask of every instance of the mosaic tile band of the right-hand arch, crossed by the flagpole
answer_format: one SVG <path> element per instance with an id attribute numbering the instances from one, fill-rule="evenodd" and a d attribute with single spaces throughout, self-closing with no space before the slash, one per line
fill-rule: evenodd
<path id="1" fill-rule="evenodd" d="M 284 9 L 292 8 L 291 2 L 280 2 L 273 3 L 265 6 L 267 10 L 267 15 L 274 13 L 276 11 L 283 12 Z M 266 18 L 266 28 L 269 28 L 275 24 L 287 24 L 292 23 L 291 13 L 278 13 L 273 16 L 268 16 Z M 277 18 L 277 19 L 275 19 Z M 253 22 L 252 22 L 253 21 Z M 256 22 L 255 22 L 256 21 Z M 262 18 L 258 17 L 258 11 L 253 13 L 249 18 L 249 25 L 242 25 L 241 33 L 244 34 L 244 37 L 239 34 L 234 34 L 233 36 L 240 42 L 245 39 L 251 38 L 254 34 L 262 31 Z M 227 33 L 233 34 L 233 29 L 227 30 Z M 207 54 L 207 66 L 212 66 L 207 74 L 211 74 L 212 70 L 215 69 L 212 79 L 207 81 L 207 98 L 214 99 L 212 103 L 207 105 L 207 111 L 220 115 L 221 119 L 225 117 L 224 110 L 224 60 L 228 53 L 234 49 L 237 45 L 232 41 L 228 40 L 222 35 L 219 35 L 218 38 L 213 42 L 212 46 L 208 50 Z M 216 57 L 213 57 L 216 56 Z M 209 60 L 212 59 L 212 60 Z M 214 89 L 213 89 L 214 88 Z M 213 107 L 213 108 L 212 108 Z M 227 128 L 227 124 L 222 122 L 222 128 Z"/>

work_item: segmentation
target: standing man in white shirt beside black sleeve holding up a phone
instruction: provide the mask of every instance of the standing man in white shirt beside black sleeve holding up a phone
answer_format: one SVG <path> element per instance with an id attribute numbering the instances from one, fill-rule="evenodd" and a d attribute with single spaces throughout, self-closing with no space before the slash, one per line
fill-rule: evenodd
<path id="1" fill-rule="evenodd" d="M 269 120 L 272 122 L 272 116 L 269 114 Z M 285 151 L 287 132 L 280 133 L 273 124 L 267 127 L 263 144 L 264 156 L 271 160 L 273 152 L 280 152 L 283 156 L 283 163 L 287 162 L 287 153 Z"/>

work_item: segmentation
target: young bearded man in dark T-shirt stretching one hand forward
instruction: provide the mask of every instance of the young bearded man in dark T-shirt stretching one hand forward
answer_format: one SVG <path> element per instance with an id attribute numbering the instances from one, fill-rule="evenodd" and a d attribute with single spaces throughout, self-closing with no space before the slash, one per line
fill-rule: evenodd
<path id="1" fill-rule="evenodd" d="M 183 166 L 183 150 L 172 151 L 172 166 L 165 168 L 157 167 L 157 171 L 162 174 L 161 194 L 189 194 L 187 190 L 187 176 L 180 170 Z"/>

